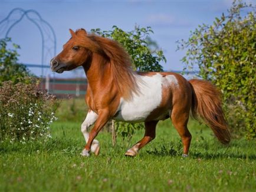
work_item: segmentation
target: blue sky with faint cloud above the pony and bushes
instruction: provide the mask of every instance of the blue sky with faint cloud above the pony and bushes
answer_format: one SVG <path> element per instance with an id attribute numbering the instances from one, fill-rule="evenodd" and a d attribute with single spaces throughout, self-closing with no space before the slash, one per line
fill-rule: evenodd
<path id="1" fill-rule="evenodd" d="M 256 2 L 252 0 L 249 2 Z M 62 50 L 63 44 L 70 38 L 69 28 L 76 30 L 84 28 L 90 31 L 92 28 L 109 30 L 113 25 L 124 31 L 131 31 L 135 25 L 140 27 L 152 27 L 154 34 L 150 37 L 162 48 L 167 59 L 162 63 L 166 71 L 182 70 L 180 59 L 185 55 L 184 51 L 176 51 L 176 41 L 188 39 L 189 34 L 199 24 L 212 24 L 216 16 L 222 12 L 227 14 L 231 6 L 231 0 L 208 1 L 80 1 L 80 0 L 0 0 L 0 21 L 4 19 L 14 8 L 25 10 L 34 9 L 42 19 L 47 21 L 54 29 L 56 35 L 56 51 Z M 12 15 L 8 24 L 0 25 L 0 38 L 5 37 L 8 27 L 20 18 L 18 12 Z M 31 18 L 38 19 L 31 14 Z M 36 20 L 37 21 L 37 20 Z M 42 25 L 43 31 L 48 31 Z M 44 36 L 47 37 L 47 34 Z M 40 31 L 31 21 L 23 18 L 19 24 L 9 31 L 8 37 L 12 42 L 20 45 L 19 62 L 41 65 L 42 40 Z M 50 35 L 51 37 L 51 35 Z M 52 47 L 51 41 L 45 42 L 46 47 Z M 50 58 L 54 56 L 51 49 L 44 56 L 44 65 L 49 65 Z M 29 68 L 36 75 L 41 75 L 40 68 Z M 64 72 L 53 74 L 50 69 L 44 69 L 43 75 L 55 75 L 55 77 L 83 77 L 84 72 Z"/>

